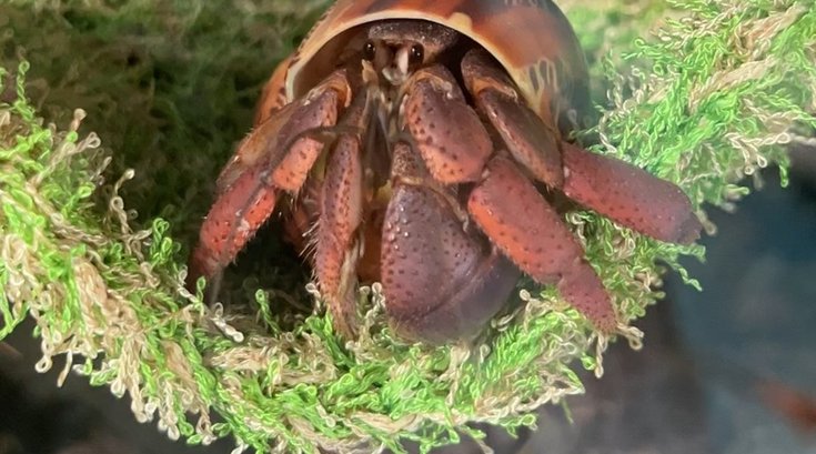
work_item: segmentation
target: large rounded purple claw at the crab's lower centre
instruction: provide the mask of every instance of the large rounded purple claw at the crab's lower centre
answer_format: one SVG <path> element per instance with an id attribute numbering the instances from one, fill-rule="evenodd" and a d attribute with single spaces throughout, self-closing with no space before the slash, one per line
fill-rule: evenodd
<path id="1" fill-rule="evenodd" d="M 381 272 L 395 330 L 442 343 L 471 336 L 501 310 L 520 272 L 455 214 L 455 198 L 422 184 L 421 159 L 399 143 Z"/>

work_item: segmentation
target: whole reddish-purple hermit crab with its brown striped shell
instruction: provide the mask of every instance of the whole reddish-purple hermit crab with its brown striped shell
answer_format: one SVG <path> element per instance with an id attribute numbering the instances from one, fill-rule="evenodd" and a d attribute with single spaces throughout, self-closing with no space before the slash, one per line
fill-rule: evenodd
<path id="1" fill-rule="evenodd" d="M 400 334 L 441 343 L 477 333 L 522 272 L 612 332 L 560 201 L 666 242 L 701 225 L 679 188 L 570 142 L 587 97 L 550 0 L 340 0 L 268 82 L 190 275 L 218 275 L 281 212 L 346 337 L 360 283 L 382 283 Z"/>

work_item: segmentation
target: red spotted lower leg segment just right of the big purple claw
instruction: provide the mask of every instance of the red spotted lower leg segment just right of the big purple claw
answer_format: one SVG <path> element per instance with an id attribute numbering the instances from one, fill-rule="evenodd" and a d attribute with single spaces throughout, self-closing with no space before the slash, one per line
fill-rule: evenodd
<path id="1" fill-rule="evenodd" d="M 556 283 L 564 297 L 598 329 L 616 326 L 601 279 L 558 213 L 507 159 L 494 158 L 467 209 L 490 240 L 542 284 Z"/>

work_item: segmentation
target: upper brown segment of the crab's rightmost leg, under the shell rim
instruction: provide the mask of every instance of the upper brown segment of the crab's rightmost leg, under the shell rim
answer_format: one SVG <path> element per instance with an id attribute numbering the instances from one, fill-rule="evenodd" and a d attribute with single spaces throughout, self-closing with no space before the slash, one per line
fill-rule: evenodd
<path id="1" fill-rule="evenodd" d="M 467 52 L 462 75 L 478 111 L 493 124 L 513 158 L 536 180 L 561 188 L 564 172 L 558 132 L 527 107 L 493 58 L 483 49 Z"/>

